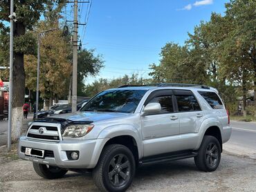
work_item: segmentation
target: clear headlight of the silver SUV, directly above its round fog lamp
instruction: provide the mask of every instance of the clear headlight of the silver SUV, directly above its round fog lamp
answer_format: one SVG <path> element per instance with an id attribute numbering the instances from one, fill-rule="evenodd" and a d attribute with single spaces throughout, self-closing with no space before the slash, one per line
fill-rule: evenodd
<path id="1" fill-rule="evenodd" d="M 65 128 L 63 137 L 82 137 L 93 129 L 92 124 L 89 125 L 71 125 Z"/>

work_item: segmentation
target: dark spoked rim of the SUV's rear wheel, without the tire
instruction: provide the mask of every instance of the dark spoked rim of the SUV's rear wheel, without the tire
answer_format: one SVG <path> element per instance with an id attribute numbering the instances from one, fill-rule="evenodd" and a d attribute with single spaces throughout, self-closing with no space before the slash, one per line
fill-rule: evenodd
<path id="1" fill-rule="evenodd" d="M 206 148 L 206 163 L 210 167 L 217 166 L 219 161 L 219 150 L 217 144 L 210 143 Z"/>

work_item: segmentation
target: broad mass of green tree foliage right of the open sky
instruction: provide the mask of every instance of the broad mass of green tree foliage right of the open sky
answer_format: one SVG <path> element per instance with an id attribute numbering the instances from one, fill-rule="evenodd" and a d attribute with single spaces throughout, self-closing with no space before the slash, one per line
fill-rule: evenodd
<path id="1" fill-rule="evenodd" d="M 237 96 L 246 99 L 248 90 L 256 91 L 255 10 L 254 0 L 230 0 L 226 15 L 213 12 L 210 21 L 201 21 L 188 34 L 184 46 L 167 43 L 149 75 L 156 82 L 214 86 L 233 111 Z"/>

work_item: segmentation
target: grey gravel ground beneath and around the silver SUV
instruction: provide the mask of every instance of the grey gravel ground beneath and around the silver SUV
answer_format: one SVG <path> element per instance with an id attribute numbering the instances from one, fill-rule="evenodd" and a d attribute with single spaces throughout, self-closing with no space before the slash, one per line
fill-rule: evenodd
<path id="1" fill-rule="evenodd" d="M 0 154 L 0 191 L 98 191 L 90 173 L 69 171 L 62 179 L 45 180 L 32 162 Z M 193 159 L 145 166 L 128 191 L 256 191 L 256 160 L 223 153 L 212 173 L 198 171 Z"/>

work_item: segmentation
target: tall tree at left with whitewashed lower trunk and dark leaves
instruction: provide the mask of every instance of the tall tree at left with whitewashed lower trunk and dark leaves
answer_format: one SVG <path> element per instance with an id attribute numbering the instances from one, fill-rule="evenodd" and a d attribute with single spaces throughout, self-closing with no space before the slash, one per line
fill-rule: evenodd
<path id="1" fill-rule="evenodd" d="M 59 1 L 60 2 L 60 1 Z M 14 3 L 14 12 L 17 21 L 14 22 L 14 61 L 13 61 L 13 98 L 12 98 L 12 141 L 17 140 L 21 133 L 22 106 L 24 104 L 25 70 L 24 55 L 35 54 L 35 38 L 28 33 L 46 8 L 46 4 L 53 3 L 49 0 L 20 0 Z M 0 1 L 0 28 L 1 34 L 6 33 L 10 28 L 6 21 L 10 21 L 10 1 Z M 5 32 L 2 32 L 5 31 Z M 8 37 L 6 37 L 8 42 Z M 5 44 L 8 46 L 8 44 Z"/>

